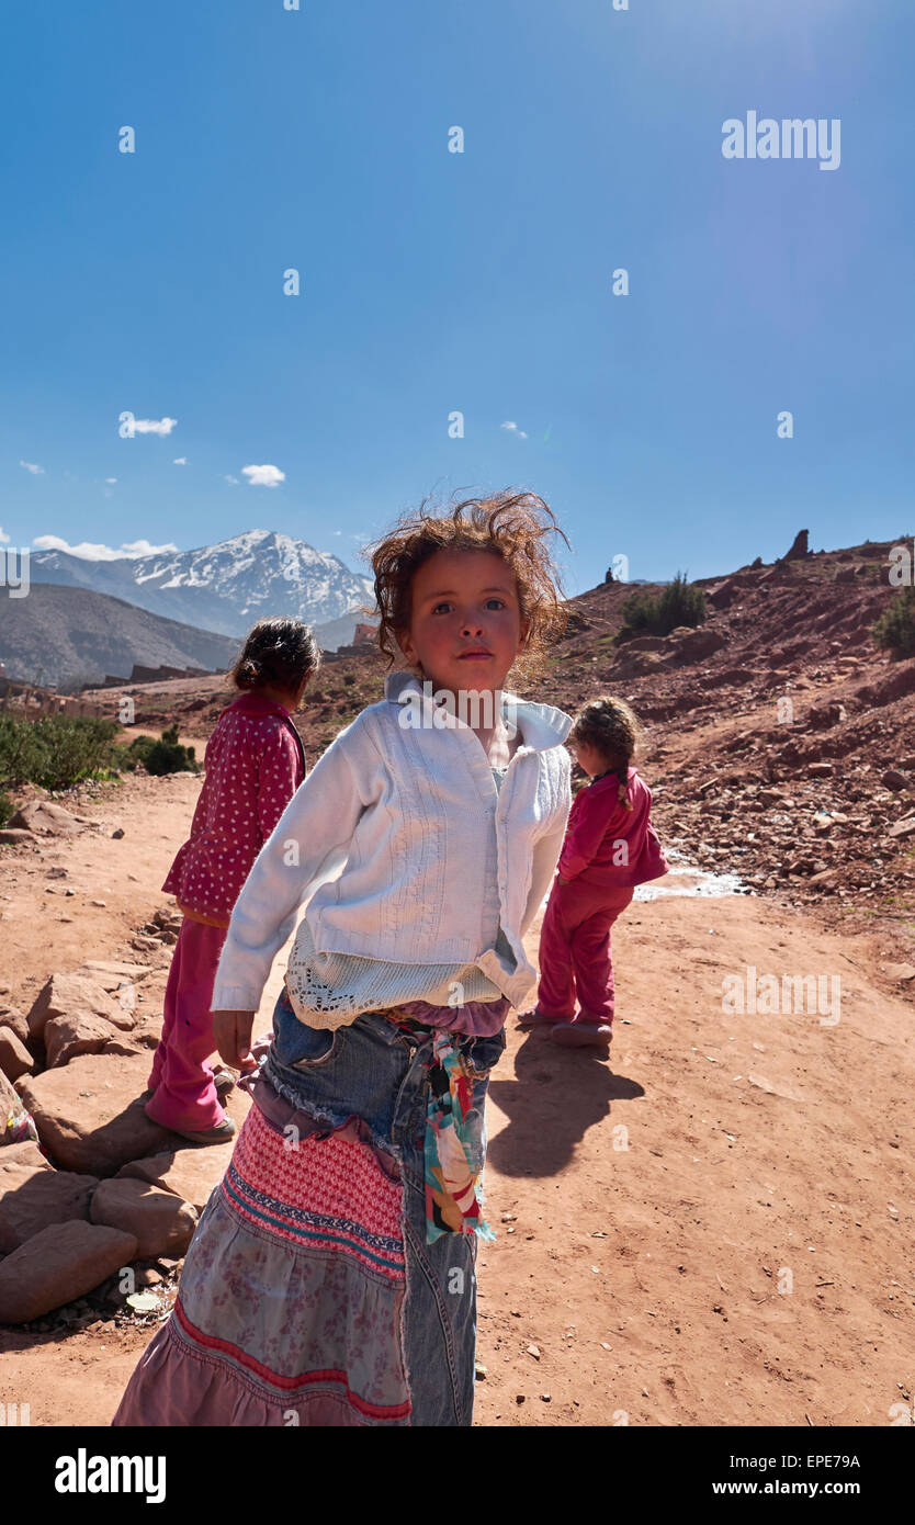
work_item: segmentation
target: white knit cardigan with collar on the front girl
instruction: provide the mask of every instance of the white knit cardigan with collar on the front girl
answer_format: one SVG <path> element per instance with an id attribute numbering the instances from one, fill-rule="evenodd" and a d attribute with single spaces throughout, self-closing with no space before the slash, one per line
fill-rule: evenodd
<path id="1" fill-rule="evenodd" d="M 214 1011 L 256 1011 L 302 904 L 290 968 L 299 942 L 390 965 L 474 964 L 522 1005 L 537 981 L 522 939 L 572 805 L 572 718 L 514 694 L 503 694 L 503 715 L 520 744 L 497 790 L 470 726 L 413 674 L 387 674 L 384 698 L 340 730 L 261 848 L 232 913 Z M 496 949 L 499 927 L 512 967 Z M 401 988 L 375 978 L 374 1003 L 393 1003 Z M 345 1017 L 352 1000 L 336 996 Z"/>

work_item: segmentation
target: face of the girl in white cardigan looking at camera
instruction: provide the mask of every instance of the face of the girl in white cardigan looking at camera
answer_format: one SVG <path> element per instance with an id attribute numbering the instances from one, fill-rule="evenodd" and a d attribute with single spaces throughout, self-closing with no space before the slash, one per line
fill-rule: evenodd
<path id="1" fill-rule="evenodd" d="M 433 688 L 503 688 L 529 625 L 515 576 L 493 551 L 436 551 L 413 573 L 410 633 L 401 650 Z"/>

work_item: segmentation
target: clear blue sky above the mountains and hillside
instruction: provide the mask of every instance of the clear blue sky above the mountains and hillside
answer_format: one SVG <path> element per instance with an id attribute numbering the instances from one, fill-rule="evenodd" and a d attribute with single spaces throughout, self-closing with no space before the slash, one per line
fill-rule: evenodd
<path id="1" fill-rule="evenodd" d="M 364 572 L 517 483 L 575 593 L 915 528 L 910 0 L 18 5 L 3 55 L 12 546 Z M 839 119 L 839 168 L 726 160 L 750 110 Z"/>

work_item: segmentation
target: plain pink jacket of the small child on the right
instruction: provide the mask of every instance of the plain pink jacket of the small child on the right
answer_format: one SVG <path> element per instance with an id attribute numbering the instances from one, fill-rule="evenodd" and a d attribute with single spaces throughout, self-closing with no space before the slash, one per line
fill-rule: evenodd
<path id="1" fill-rule="evenodd" d="M 627 889 L 669 871 L 651 825 L 651 790 L 634 767 L 627 775 L 631 810 L 619 804 L 618 791 L 616 773 L 578 790 L 560 852 L 560 878 Z"/>

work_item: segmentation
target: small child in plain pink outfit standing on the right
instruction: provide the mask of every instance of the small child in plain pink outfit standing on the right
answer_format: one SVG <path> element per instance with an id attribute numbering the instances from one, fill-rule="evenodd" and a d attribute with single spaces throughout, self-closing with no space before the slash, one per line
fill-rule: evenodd
<path id="1" fill-rule="evenodd" d="M 575 717 L 569 741 L 592 782 L 572 804 L 540 930 L 537 1008 L 520 1022 L 547 1022 L 554 1043 L 566 1048 L 607 1048 L 613 1039 L 610 929 L 636 884 L 660 878 L 669 865 L 651 825 L 651 790 L 631 767 L 637 720 L 628 705 L 592 700 Z"/>

